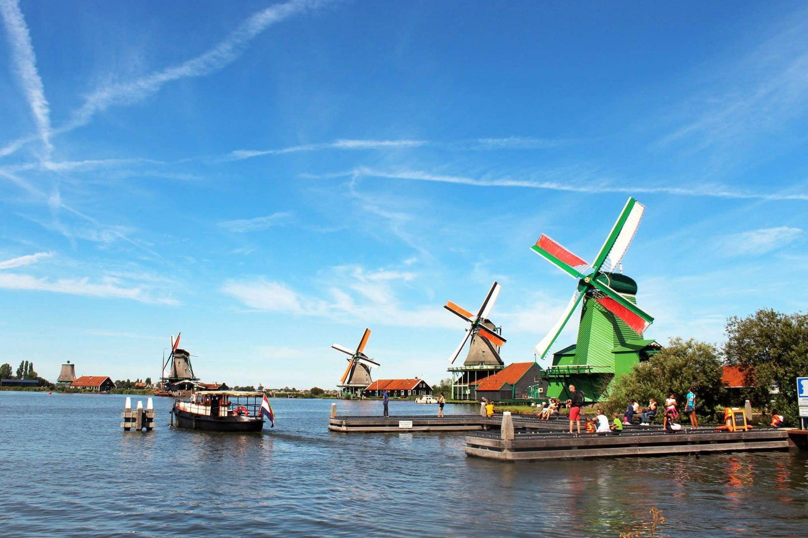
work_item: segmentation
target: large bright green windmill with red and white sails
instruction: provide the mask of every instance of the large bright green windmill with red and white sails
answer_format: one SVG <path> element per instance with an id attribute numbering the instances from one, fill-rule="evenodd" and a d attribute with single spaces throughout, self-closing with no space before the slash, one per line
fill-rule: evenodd
<path id="1" fill-rule="evenodd" d="M 547 355 L 583 301 L 578 340 L 553 354 L 553 363 L 543 371 L 542 382 L 533 386 L 533 396 L 566 398 L 566 387 L 573 383 L 583 389 L 587 401 L 598 401 L 615 378 L 659 351 L 654 340 L 642 338 L 654 318 L 637 306 L 637 283 L 615 272 L 621 268 L 621 259 L 645 209 L 629 198 L 592 264 L 544 234 L 532 246 L 539 256 L 578 281 L 561 318 L 537 344 L 537 361 Z"/>

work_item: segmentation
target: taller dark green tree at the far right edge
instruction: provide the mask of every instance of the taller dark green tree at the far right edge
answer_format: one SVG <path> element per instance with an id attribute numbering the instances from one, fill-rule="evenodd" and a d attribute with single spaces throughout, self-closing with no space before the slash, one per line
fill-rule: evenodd
<path id="1" fill-rule="evenodd" d="M 730 365 L 738 365 L 751 400 L 799 422 L 797 377 L 808 374 L 808 315 L 782 314 L 761 309 L 746 318 L 733 316 L 726 322 L 724 353 Z M 771 394 L 773 388 L 779 389 Z"/>

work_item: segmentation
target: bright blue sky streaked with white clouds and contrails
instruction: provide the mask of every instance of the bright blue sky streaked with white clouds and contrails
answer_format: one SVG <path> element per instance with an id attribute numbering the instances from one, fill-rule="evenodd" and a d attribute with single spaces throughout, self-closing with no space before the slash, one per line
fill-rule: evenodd
<path id="1" fill-rule="evenodd" d="M 804 311 L 802 2 L 0 0 L 0 362 L 446 377 L 491 282 L 532 360 L 629 195 L 646 335 Z M 574 323 L 560 348 L 574 341 Z"/>

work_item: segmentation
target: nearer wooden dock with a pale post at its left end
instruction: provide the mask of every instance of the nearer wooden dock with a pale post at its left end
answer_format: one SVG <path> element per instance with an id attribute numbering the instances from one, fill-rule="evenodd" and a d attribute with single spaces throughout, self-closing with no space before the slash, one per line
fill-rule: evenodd
<path id="1" fill-rule="evenodd" d="M 719 432 L 708 428 L 665 432 L 626 430 L 621 435 L 558 432 L 482 433 L 466 436 L 465 453 L 499 461 L 555 460 L 579 457 L 661 456 L 686 453 L 787 450 L 789 433 L 774 428 Z"/>

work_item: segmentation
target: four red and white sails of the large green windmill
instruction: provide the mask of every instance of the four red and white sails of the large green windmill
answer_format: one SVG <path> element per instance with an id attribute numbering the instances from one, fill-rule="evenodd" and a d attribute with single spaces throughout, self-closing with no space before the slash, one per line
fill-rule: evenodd
<path id="1" fill-rule="evenodd" d="M 570 277 L 578 279 L 575 292 L 561 318 L 536 346 L 539 359 L 544 358 L 549 352 L 550 347 L 564 329 L 566 322 L 569 321 L 572 312 L 584 297 L 587 298 L 587 302 L 594 300 L 600 307 L 621 319 L 639 337 L 642 337 L 642 333 L 654 321 L 654 318 L 648 315 L 646 311 L 643 311 L 642 308 L 629 301 L 626 297 L 630 295 L 633 298 L 633 294 L 637 293 L 636 284 L 628 277 L 612 273 L 613 270 L 618 268 L 625 251 L 629 248 L 645 209 L 646 207 L 637 202 L 637 200 L 629 198 L 603 247 L 600 248 L 600 252 L 595 257 L 594 263 L 591 265 L 548 236 L 545 236 L 545 234 L 541 234 L 537 244 L 532 246 L 534 252 L 569 274 Z M 630 281 L 630 283 L 622 281 Z M 618 282 L 620 282 L 621 286 L 617 286 Z M 618 293 L 612 286 L 621 287 L 624 294 Z M 587 309 L 587 302 L 584 302 L 584 311 Z M 613 348 L 611 336 L 608 343 L 604 342 L 604 344 L 608 344 L 611 352 Z"/>

